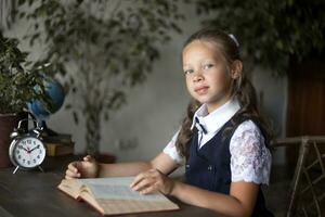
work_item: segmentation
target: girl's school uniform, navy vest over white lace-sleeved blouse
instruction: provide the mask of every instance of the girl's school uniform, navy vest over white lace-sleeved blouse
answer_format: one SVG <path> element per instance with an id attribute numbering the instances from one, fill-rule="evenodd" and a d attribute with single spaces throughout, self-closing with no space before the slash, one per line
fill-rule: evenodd
<path id="1" fill-rule="evenodd" d="M 209 191 L 229 194 L 231 182 L 269 184 L 271 154 L 258 123 L 238 114 L 232 99 L 208 114 L 203 104 L 193 117 L 193 135 L 186 144 L 187 158 L 177 152 L 179 131 L 164 149 L 178 164 L 185 164 L 186 182 Z M 273 216 L 259 190 L 252 216 Z"/>

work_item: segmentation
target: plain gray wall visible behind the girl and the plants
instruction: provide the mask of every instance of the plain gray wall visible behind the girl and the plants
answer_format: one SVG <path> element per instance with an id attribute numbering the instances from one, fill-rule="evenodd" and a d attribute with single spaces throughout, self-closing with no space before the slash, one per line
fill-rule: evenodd
<path id="1" fill-rule="evenodd" d="M 129 94 L 128 104 L 102 125 L 100 149 L 114 153 L 119 162 L 151 159 L 164 149 L 180 126 L 190 99 L 181 71 L 181 48 L 186 37 L 199 28 L 199 21 L 193 18 L 194 10 L 188 7 L 183 10 L 192 17 L 181 25 L 184 33 L 176 34 L 161 48 L 161 59 L 155 63 L 148 80 L 134 88 Z M 5 35 L 21 37 L 26 28 L 27 25 L 21 22 Z M 30 51 L 28 44 L 22 44 L 21 48 Z M 42 50 L 36 47 L 30 51 L 30 59 L 41 55 Z M 271 73 L 257 68 L 251 79 L 259 95 L 262 95 L 264 112 L 274 119 L 277 136 L 283 137 L 284 127 L 281 126 L 285 123 L 286 78 L 274 78 Z M 78 100 L 68 95 L 65 103 Z M 86 146 L 83 122 L 81 119 L 78 126 L 75 125 L 70 112 L 61 110 L 50 117 L 48 125 L 58 132 L 72 133 L 76 141 L 75 152 L 82 153 Z M 283 163 L 283 152 L 275 153 L 274 162 Z"/>

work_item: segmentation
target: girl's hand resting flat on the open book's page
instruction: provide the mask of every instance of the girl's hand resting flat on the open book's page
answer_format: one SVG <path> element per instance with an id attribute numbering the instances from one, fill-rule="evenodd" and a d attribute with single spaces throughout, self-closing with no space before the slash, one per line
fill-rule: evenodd
<path id="1" fill-rule="evenodd" d="M 160 191 L 164 194 L 170 194 L 173 190 L 174 181 L 166 177 L 158 169 L 150 169 L 139 174 L 130 188 L 134 191 L 140 191 L 142 194 L 148 194 Z"/>

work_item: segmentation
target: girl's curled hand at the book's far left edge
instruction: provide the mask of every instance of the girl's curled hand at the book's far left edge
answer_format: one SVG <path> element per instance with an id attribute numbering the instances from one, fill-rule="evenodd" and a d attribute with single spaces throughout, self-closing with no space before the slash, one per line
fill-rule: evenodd
<path id="1" fill-rule="evenodd" d="M 78 178 L 95 178 L 99 174 L 99 164 L 96 161 L 87 155 L 83 161 L 73 162 L 68 165 L 65 171 L 66 179 L 78 179 Z"/>

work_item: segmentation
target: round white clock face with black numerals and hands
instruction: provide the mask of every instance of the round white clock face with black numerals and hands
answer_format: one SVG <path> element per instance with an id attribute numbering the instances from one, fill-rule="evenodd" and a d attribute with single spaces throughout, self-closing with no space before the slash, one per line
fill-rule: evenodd
<path id="1" fill-rule="evenodd" d="M 46 157 L 43 143 L 32 137 L 25 137 L 17 141 L 13 157 L 17 165 L 26 168 L 32 168 L 40 165 Z"/>

